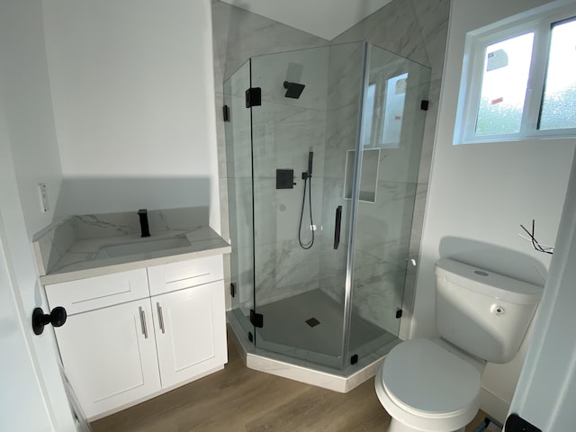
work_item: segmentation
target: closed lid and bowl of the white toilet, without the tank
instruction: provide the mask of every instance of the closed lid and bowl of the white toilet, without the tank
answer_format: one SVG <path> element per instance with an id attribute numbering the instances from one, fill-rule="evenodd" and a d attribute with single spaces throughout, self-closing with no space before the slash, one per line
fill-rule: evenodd
<path id="1" fill-rule="evenodd" d="M 394 347 L 375 384 L 384 409 L 410 430 L 464 428 L 480 407 L 476 367 L 428 339 Z"/>

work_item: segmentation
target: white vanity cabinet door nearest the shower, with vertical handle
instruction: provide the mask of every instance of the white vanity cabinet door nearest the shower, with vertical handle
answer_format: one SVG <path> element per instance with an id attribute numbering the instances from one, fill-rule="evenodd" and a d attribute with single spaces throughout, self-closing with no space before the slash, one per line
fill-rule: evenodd
<path id="1" fill-rule="evenodd" d="M 163 388 L 227 362 L 223 281 L 154 296 L 152 309 Z"/>

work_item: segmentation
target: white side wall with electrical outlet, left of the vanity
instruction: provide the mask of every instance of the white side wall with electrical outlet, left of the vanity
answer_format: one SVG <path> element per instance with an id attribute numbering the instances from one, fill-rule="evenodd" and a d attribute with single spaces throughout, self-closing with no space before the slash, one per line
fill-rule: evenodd
<path id="1" fill-rule="evenodd" d="M 0 31 L 7 133 L 31 237 L 54 216 L 54 205 L 41 211 L 38 184 L 47 184 L 54 204 L 61 183 L 40 1 L 3 2 Z"/>

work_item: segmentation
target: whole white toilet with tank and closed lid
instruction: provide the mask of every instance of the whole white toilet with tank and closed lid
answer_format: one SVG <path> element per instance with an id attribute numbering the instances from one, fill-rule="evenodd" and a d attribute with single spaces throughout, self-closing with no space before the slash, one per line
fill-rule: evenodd
<path id="1" fill-rule="evenodd" d="M 516 356 L 543 291 L 447 258 L 436 275 L 440 338 L 402 342 L 376 374 L 388 432 L 464 431 L 480 407 L 484 365 Z"/>

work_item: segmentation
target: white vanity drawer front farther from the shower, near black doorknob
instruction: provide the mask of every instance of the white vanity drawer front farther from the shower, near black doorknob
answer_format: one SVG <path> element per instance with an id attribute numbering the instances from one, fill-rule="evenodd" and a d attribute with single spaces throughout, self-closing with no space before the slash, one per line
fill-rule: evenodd
<path id="1" fill-rule="evenodd" d="M 46 285 L 50 309 L 64 306 L 68 315 L 149 296 L 145 268 Z"/>

